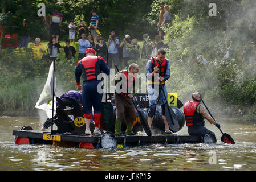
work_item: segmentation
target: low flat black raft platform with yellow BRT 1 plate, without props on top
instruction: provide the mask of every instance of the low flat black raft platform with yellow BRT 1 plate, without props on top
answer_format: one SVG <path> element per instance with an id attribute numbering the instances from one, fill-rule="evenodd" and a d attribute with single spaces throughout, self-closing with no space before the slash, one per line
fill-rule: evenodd
<path id="1" fill-rule="evenodd" d="M 55 130 L 54 130 L 55 131 Z M 55 131 L 56 132 L 56 131 Z M 105 148 L 103 135 L 51 134 L 41 130 L 13 130 L 15 144 L 57 144 L 64 147 Z M 190 135 L 127 135 L 117 136 L 116 147 L 145 146 L 150 144 L 203 143 L 204 137 Z M 111 147 L 112 148 L 112 147 Z"/>

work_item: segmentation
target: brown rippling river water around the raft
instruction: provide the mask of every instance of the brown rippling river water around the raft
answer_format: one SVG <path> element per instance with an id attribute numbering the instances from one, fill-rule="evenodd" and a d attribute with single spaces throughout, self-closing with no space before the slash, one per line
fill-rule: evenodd
<path id="1" fill-rule="evenodd" d="M 219 119 L 220 120 L 220 119 Z M 256 170 L 255 121 L 222 119 L 222 131 L 236 144 L 221 142 L 217 127 L 214 144 L 153 144 L 115 150 L 65 148 L 47 144 L 15 145 L 12 130 L 42 126 L 38 117 L 0 118 L 0 170 Z M 186 126 L 178 131 L 188 135 Z"/>

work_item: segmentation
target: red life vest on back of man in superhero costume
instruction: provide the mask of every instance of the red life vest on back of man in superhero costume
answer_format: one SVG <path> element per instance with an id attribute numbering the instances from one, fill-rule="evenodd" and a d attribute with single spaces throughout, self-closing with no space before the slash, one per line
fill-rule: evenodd
<path id="1" fill-rule="evenodd" d="M 98 56 L 86 56 L 78 62 L 83 65 L 83 81 L 96 80 L 101 73 Z"/>

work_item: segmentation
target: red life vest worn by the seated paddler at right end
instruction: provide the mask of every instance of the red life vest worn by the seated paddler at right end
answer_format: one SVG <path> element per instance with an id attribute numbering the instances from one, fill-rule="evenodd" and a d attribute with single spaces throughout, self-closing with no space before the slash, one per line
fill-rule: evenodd
<path id="1" fill-rule="evenodd" d="M 183 111 L 186 119 L 186 126 L 204 126 L 204 117 L 197 113 L 197 106 L 200 102 L 186 102 Z"/>

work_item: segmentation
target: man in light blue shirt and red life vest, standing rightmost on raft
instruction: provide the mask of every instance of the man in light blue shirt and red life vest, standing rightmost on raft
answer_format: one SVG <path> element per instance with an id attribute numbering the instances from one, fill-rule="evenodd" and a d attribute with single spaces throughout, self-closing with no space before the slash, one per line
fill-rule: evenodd
<path id="1" fill-rule="evenodd" d="M 147 81 L 148 81 L 148 99 L 149 99 L 149 111 L 148 111 L 148 126 L 151 127 L 154 115 L 156 113 L 157 98 L 160 100 L 162 108 L 162 119 L 165 125 L 165 134 L 173 134 L 169 130 L 168 121 L 165 117 L 165 105 L 167 104 L 164 98 L 166 98 L 167 89 L 165 81 L 170 77 L 170 61 L 165 58 L 165 50 L 159 49 L 156 57 L 151 57 L 146 65 Z M 157 75 L 157 73 L 159 75 Z M 162 82 L 162 90 L 160 81 Z"/>

